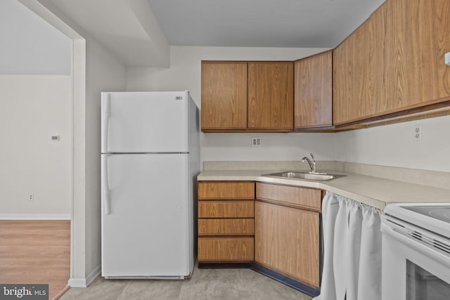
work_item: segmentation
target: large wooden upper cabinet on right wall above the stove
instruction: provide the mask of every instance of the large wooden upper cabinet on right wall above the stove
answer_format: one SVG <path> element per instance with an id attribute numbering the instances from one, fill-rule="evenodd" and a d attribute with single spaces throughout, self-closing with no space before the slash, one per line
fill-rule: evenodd
<path id="1" fill-rule="evenodd" d="M 449 105 L 449 19 L 450 1 L 385 1 L 333 51 L 334 124 Z"/>

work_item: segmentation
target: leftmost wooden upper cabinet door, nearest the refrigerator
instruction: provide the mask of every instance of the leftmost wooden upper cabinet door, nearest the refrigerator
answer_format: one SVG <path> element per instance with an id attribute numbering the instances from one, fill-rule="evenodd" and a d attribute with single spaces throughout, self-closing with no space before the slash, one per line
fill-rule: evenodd
<path id="1" fill-rule="evenodd" d="M 202 62 L 202 130 L 247 129 L 247 62 Z"/>

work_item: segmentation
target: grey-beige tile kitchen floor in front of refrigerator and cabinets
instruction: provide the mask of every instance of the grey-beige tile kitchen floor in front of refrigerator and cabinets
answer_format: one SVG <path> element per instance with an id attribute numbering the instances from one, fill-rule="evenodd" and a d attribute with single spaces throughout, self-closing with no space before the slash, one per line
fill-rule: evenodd
<path id="1" fill-rule="evenodd" d="M 250 269 L 198 269 L 188 280 L 105 280 L 69 289 L 61 300 L 311 300 Z"/>

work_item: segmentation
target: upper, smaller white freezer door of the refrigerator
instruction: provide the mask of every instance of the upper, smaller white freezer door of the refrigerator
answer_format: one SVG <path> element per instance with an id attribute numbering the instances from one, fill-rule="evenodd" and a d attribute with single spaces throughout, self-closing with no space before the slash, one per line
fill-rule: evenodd
<path id="1" fill-rule="evenodd" d="M 102 153 L 188 152 L 188 91 L 101 96 Z"/>

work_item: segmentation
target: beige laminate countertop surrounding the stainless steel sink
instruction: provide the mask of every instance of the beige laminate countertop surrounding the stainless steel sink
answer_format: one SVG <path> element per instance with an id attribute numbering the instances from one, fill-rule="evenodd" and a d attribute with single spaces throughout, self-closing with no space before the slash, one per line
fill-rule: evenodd
<path id="1" fill-rule="evenodd" d="M 330 181 L 307 181 L 293 178 L 262 176 L 285 170 L 206 170 L 198 175 L 198 181 L 259 181 L 319 188 L 349 199 L 384 209 L 394 202 L 449 202 L 450 190 L 365 176 L 343 171 L 326 171 L 329 174 L 345 175 Z M 321 170 L 322 171 L 322 170 Z"/>

